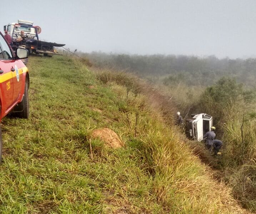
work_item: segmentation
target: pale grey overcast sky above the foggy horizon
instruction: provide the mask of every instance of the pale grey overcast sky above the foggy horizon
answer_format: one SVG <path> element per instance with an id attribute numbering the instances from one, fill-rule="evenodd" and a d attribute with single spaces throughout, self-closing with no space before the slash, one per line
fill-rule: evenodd
<path id="1" fill-rule="evenodd" d="M 6 2 L 6 1 L 5 1 Z M 12 0 L 3 26 L 18 19 L 39 38 L 82 52 L 256 56 L 256 0 Z"/>

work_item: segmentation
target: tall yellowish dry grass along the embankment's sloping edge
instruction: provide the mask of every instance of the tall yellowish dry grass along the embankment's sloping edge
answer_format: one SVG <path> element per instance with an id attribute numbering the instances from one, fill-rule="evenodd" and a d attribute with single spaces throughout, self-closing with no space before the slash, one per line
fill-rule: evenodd
<path id="1" fill-rule="evenodd" d="M 112 89 L 119 94 L 125 93 L 125 86 L 121 89 L 116 84 L 115 81 Z M 141 156 L 141 167 L 152 180 L 150 194 L 157 203 L 169 213 L 248 213 L 232 198 L 231 189 L 214 180 L 211 170 L 192 154 L 178 129 L 166 127 L 163 117 L 173 115 L 173 103 L 160 91 L 146 86 L 145 82 L 140 86 L 140 92 L 142 97 L 133 94 L 126 100 L 126 119 L 123 122 L 130 132 L 127 133 L 124 127 L 120 129 L 137 142 L 134 146 Z M 164 108 L 167 103 L 170 103 L 170 108 Z M 147 107 L 149 105 L 151 108 Z M 131 106 L 145 106 L 139 120 L 137 108 Z"/>

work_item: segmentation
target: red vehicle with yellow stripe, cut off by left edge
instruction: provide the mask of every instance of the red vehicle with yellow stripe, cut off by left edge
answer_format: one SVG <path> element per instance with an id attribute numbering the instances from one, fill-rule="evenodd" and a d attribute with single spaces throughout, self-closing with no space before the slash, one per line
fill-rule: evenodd
<path id="1" fill-rule="evenodd" d="M 0 32 L 0 122 L 10 112 L 20 118 L 29 117 L 29 72 L 21 60 L 27 55 L 25 48 L 17 48 L 14 53 Z M 0 159 L 1 156 L 0 126 Z"/>

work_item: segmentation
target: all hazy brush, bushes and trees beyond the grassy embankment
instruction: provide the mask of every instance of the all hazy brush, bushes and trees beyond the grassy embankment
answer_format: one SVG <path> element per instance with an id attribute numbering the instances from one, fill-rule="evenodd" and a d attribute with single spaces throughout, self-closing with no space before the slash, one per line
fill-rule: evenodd
<path id="1" fill-rule="evenodd" d="M 224 142 L 217 160 L 200 142 L 190 142 L 201 160 L 217 169 L 243 207 L 256 212 L 256 59 L 215 56 L 84 54 L 99 68 L 136 73 L 169 94 L 182 116 L 209 113 Z"/>

